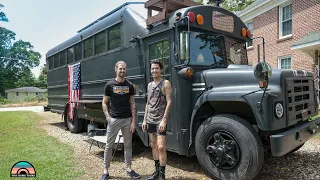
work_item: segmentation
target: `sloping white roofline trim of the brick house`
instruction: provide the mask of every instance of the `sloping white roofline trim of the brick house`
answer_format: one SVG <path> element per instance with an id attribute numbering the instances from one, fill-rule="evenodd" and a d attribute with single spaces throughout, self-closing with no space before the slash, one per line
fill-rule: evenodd
<path id="1" fill-rule="evenodd" d="M 292 3 L 292 0 L 266 0 L 243 14 L 240 12 L 239 14 L 237 14 L 237 16 L 240 17 L 240 19 L 243 22 L 247 22 L 247 21 L 250 21 L 253 18 L 259 16 L 260 14 L 263 14 L 263 13 L 269 11 L 270 9 L 273 9 L 273 8 L 279 6 L 283 3 L 287 3 L 287 2 Z"/>

